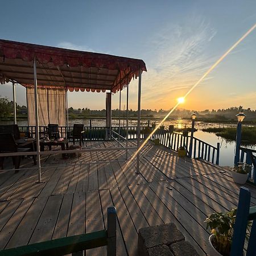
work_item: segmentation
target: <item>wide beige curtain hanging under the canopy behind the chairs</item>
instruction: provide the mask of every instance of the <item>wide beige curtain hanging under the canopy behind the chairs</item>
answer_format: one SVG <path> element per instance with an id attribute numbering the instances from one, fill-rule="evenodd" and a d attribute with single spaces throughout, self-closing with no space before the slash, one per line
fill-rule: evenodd
<path id="1" fill-rule="evenodd" d="M 28 125 L 35 125 L 34 88 L 27 88 Z M 65 89 L 38 88 L 38 121 L 39 126 L 48 123 L 66 125 Z"/>

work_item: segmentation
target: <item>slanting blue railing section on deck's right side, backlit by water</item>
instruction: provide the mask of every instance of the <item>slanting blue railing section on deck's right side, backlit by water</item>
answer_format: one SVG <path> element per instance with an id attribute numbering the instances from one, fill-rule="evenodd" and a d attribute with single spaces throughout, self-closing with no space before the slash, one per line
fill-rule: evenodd
<path id="1" fill-rule="evenodd" d="M 153 141 L 159 139 L 159 143 L 171 150 L 177 151 L 179 147 L 185 147 L 187 155 L 189 155 L 189 146 L 191 147 L 191 157 L 201 158 L 208 162 L 218 164 L 220 158 L 220 143 L 217 143 L 217 147 L 214 147 L 207 142 L 201 141 L 195 137 L 192 138 L 182 133 L 176 133 L 175 131 L 170 132 L 163 129 L 159 129 L 155 134 L 151 136 Z"/>

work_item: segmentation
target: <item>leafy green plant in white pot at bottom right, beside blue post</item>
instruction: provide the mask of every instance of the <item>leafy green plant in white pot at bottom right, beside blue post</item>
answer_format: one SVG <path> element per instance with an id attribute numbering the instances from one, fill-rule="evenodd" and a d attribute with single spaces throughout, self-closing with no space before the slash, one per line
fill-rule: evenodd
<path id="1" fill-rule="evenodd" d="M 207 229 L 210 229 L 210 233 L 212 233 L 209 236 L 210 256 L 230 255 L 236 213 L 237 208 L 225 213 L 215 212 L 206 218 Z M 250 226 L 251 222 L 248 222 L 246 238 L 249 237 Z"/>

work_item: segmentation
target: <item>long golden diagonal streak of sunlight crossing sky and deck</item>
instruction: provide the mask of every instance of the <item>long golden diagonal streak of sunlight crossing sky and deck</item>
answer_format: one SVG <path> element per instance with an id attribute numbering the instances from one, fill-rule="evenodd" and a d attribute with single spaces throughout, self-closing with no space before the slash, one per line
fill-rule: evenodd
<path id="1" fill-rule="evenodd" d="M 255 28 L 256 28 L 256 23 L 255 23 L 254 26 L 251 27 L 239 40 L 237 40 L 237 42 L 234 43 L 233 46 L 230 47 L 230 48 L 228 49 L 228 51 L 226 51 L 226 52 L 224 53 L 224 55 L 222 55 L 222 56 L 220 57 L 220 59 L 218 59 L 218 60 L 208 69 L 207 72 L 204 73 L 204 75 L 188 90 L 188 92 L 187 92 L 187 93 L 184 95 L 184 97 L 182 97 L 182 98 L 184 98 L 184 100 L 185 100 L 185 98 L 188 96 L 188 94 L 191 93 L 192 90 L 195 89 L 196 86 L 199 85 L 200 82 L 203 81 L 203 80 L 205 79 L 205 77 L 207 77 L 208 74 L 209 74 L 211 71 L 213 71 L 213 69 L 216 68 L 216 66 L 217 66 L 218 64 L 220 64 L 221 61 L 224 60 L 225 57 L 226 57 L 231 51 L 233 51 L 233 49 L 236 48 L 236 47 L 238 46 L 238 44 L 240 44 L 240 43 L 242 42 L 242 40 L 245 39 L 246 36 L 249 35 Z M 151 134 L 143 141 L 143 143 L 141 144 L 141 146 L 139 146 L 139 148 L 137 149 L 137 151 L 134 152 L 134 154 L 131 156 L 131 159 L 129 159 L 129 161 L 127 162 L 127 165 L 126 165 L 125 169 L 127 168 L 127 166 L 130 165 L 130 163 L 133 161 L 133 159 L 135 158 L 135 156 L 138 155 L 139 151 L 142 150 L 142 148 L 144 147 L 144 145 L 148 142 L 148 139 L 150 139 L 150 137 L 155 133 L 155 131 L 159 129 L 159 127 L 162 125 L 162 123 L 163 123 L 164 121 L 166 121 L 166 119 L 169 117 L 169 115 L 170 115 L 172 112 L 174 112 L 174 110 L 175 110 L 175 109 L 177 108 L 177 106 L 179 106 L 179 105 L 180 105 L 180 102 L 178 101 L 177 104 L 170 110 L 170 112 L 163 118 L 163 120 L 162 120 L 161 122 L 159 122 L 158 125 L 156 125 L 155 129 L 152 130 Z"/>

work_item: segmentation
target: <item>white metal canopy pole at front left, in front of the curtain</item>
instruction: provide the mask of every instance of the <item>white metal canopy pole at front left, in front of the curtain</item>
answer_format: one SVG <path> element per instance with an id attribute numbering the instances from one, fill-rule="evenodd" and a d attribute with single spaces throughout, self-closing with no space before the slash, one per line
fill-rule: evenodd
<path id="1" fill-rule="evenodd" d="M 39 146 L 39 125 L 38 125 L 38 80 L 36 78 L 36 59 L 34 57 L 34 93 L 35 93 L 35 121 L 36 121 L 36 153 L 38 164 L 38 182 L 42 182 L 41 179 L 41 162 L 40 162 L 40 146 Z"/>

